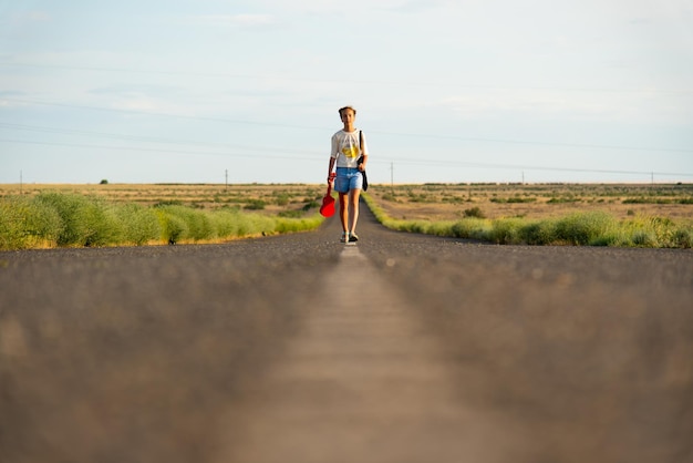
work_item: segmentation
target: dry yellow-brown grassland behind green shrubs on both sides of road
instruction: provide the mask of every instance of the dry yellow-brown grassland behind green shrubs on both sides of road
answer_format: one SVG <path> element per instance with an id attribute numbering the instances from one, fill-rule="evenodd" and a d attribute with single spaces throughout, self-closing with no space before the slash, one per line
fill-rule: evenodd
<path id="1" fill-rule="evenodd" d="M 118 203 L 154 205 L 179 202 L 205 209 L 263 204 L 262 212 L 297 210 L 319 202 L 324 185 L 308 184 L 29 184 L 24 195 L 53 191 L 96 195 Z M 0 185 L 0 197 L 19 194 L 20 185 Z M 617 218 L 656 216 L 693 220 L 693 184 L 417 184 L 372 185 L 369 194 L 395 219 L 456 220 L 478 207 L 488 218 L 560 217 L 575 212 L 602 210 Z M 640 199 L 640 204 L 628 204 Z"/>

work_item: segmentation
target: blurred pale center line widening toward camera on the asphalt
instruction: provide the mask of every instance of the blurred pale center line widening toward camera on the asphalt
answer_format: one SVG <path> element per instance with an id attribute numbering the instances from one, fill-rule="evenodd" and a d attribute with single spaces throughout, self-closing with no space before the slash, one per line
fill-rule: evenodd
<path id="1" fill-rule="evenodd" d="M 302 332 L 234 410 L 219 461 L 458 462 L 480 445 L 496 451 L 479 435 L 492 423 L 459 404 L 452 360 L 358 246 L 319 287 Z"/>

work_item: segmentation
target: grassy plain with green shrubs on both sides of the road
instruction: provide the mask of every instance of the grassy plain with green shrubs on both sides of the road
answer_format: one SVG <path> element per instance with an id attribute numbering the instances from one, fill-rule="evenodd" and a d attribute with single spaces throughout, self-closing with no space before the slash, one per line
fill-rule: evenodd
<path id="1" fill-rule="evenodd" d="M 0 249 L 220 241 L 311 229 L 323 185 L 0 185 Z M 690 248 L 693 184 L 373 185 L 379 219 L 498 244 Z"/>

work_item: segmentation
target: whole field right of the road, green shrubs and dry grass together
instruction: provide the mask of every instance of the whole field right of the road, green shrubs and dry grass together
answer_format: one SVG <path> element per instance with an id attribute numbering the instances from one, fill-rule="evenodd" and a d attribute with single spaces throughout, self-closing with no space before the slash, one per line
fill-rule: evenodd
<path id="1" fill-rule="evenodd" d="M 680 185 L 679 185 L 680 186 Z M 558 189 L 561 193 L 557 193 Z M 691 248 L 693 247 L 693 218 L 691 204 L 693 192 L 687 188 L 662 188 L 655 192 L 649 187 L 618 186 L 599 188 L 563 189 L 562 186 L 535 188 L 503 187 L 459 188 L 449 185 L 401 186 L 397 189 L 380 194 L 375 199 L 372 194 L 363 197 L 376 218 L 387 228 L 436 236 L 476 239 L 505 245 L 573 245 L 573 246 L 619 246 L 651 248 Z M 387 188 L 384 188 L 387 189 Z M 455 191 L 458 192 L 455 195 Z M 644 192 L 643 192 L 644 191 Z M 583 195 L 581 193 L 586 193 Z M 625 197 L 622 197 L 625 195 Z M 587 199 L 586 199 L 587 198 Z M 453 204 L 453 207 L 439 207 L 435 219 L 428 217 L 394 218 L 392 214 L 421 215 L 421 203 Z M 579 204 L 582 203 L 580 206 Z M 617 204 L 618 203 L 618 204 Z M 484 208 L 475 205 L 484 204 Z M 500 209 L 499 204 L 506 208 Z M 578 206 L 576 206 L 578 204 Z M 611 207 L 606 207 L 606 205 Z M 635 213 L 625 205 L 678 206 L 678 218 Z M 503 216 L 499 210 L 508 212 L 509 205 L 521 213 Z M 570 209 L 555 215 L 555 205 L 569 205 Z M 523 207 L 519 209 L 519 207 Z M 430 210 L 430 209 L 428 209 Z M 447 217 L 445 216 L 447 210 Z M 656 212 L 650 208 L 650 212 Z M 673 209 L 672 209 L 673 210 Z M 424 213 L 425 214 L 425 213 Z M 511 212 L 510 212 L 511 214 Z M 529 217 L 535 215 L 536 217 Z"/>

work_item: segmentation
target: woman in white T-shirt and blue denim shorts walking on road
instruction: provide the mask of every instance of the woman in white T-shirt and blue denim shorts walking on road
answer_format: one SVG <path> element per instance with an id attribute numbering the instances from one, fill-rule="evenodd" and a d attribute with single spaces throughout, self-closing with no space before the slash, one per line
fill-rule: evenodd
<path id="1" fill-rule="evenodd" d="M 363 175 L 369 160 L 369 151 L 363 133 L 354 127 L 356 110 L 344 106 L 339 110 L 339 115 L 344 127 L 332 135 L 328 183 L 332 182 L 332 171 L 337 165 L 334 191 L 339 194 L 340 219 L 343 230 L 340 241 L 354 243 L 359 240 L 356 235 L 359 197 L 363 188 Z M 363 158 L 361 160 L 360 156 Z M 351 217 L 349 212 L 351 212 Z"/>

